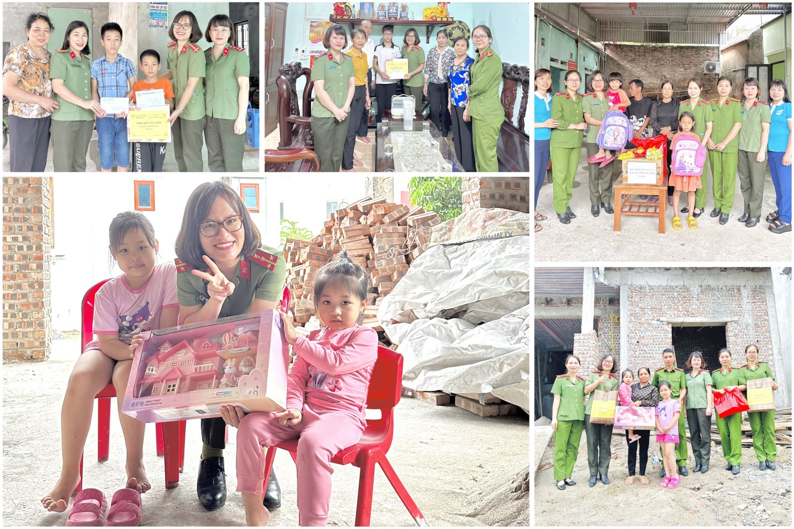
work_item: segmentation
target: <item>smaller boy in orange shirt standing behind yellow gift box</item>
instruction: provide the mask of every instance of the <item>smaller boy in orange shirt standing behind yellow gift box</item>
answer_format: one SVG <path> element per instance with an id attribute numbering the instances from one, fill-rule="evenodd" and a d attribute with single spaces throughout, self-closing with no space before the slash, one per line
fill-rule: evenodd
<path id="1" fill-rule="evenodd" d="M 145 78 L 133 86 L 135 93 L 147 90 L 162 90 L 168 110 L 174 110 L 174 89 L 169 79 L 160 77 L 160 53 L 153 49 L 141 52 L 141 71 Z M 133 172 L 162 172 L 167 143 L 133 141 Z"/>

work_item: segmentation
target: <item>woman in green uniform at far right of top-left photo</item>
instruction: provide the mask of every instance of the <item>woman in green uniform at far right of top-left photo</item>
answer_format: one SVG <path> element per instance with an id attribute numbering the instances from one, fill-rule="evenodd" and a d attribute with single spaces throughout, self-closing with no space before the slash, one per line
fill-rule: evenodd
<path id="1" fill-rule="evenodd" d="M 233 45 L 234 25 L 226 15 L 210 18 L 204 37 L 213 44 L 204 52 L 207 161 L 211 172 L 240 172 L 251 65 L 245 49 Z"/>

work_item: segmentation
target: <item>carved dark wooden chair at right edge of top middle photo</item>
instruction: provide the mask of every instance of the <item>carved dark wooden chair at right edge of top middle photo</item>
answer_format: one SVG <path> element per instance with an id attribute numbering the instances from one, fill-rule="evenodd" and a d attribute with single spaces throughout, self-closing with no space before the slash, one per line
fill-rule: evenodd
<path id="1" fill-rule="evenodd" d="M 530 135 L 524 132 L 526 106 L 530 97 L 530 68 L 502 63 L 502 106 L 504 122 L 496 141 L 500 172 L 530 172 Z M 518 85 L 522 86 L 517 122 L 513 122 Z"/>

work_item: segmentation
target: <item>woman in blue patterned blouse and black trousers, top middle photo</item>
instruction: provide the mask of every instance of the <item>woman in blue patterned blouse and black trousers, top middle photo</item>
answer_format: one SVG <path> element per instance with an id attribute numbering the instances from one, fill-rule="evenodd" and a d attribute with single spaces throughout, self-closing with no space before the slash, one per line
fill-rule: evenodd
<path id="1" fill-rule="evenodd" d="M 467 172 L 475 172 L 474 142 L 472 141 L 472 118 L 464 120 L 463 111 L 468 105 L 468 68 L 474 62 L 468 56 L 468 39 L 457 37 L 455 39 L 455 58 L 449 69 L 449 98 L 447 110 L 452 118 L 453 144 L 458 161 Z"/>

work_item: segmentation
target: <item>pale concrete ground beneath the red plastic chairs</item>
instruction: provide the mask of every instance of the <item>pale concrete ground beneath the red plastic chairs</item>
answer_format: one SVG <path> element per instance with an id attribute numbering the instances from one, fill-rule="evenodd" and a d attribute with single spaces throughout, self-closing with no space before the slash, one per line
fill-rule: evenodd
<path id="1" fill-rule="evenodd" d="M 60 407 L 79 340 L 53 342 L 44 363 L 3 365 L 3 525 L 63 526 L 67 512 L 44 511 L 40 497 L 60 472 Z M 95 409 L 95 407 L 94 407 Z M 84 461 L 85 487 L 110 495 L 123 486 L 124 442 L 115 403 L 110 419 L 110 459 L 96 461 L 96 413 L 88 436 Z M 529 459 L 529 421 L 526 415 L 480 419 L 457 407 L 435 407 L 403 398 L 395 408 L 395 437 L 387 456 L 403 484 L 431 526 L 480 526 L 484 519 L 469 515 L 486 500 L 493 484 L 513 480 Z M 164 489 L 164 467 L 155 454 L 154 425 L 146 431 L 145 465 L 152 490 L 143 496 L 143 520 L 148 526 L 245 525 L 245 514 L 235 478 L 235 435 L 229 428 L 225 454 L 229 499 L 223 508 L 206 512 L 198 504 L 195 477 L 201 451 L 198 421 L 187 422 L 185 469 L 177 488 Z M 295 526 L 295 465 L 279 451 L 276 475 L 283 504 L 272 512 L 271 524 Z M 356 512 L 358 469 L 334 465 L 333 497 L 329 525 L 353 525 Z M 489 484 L 484 487 L 483 484 Z M 507 498 L 506 500 L 509 500 Z M 527 502 L 526 500 L 522 500 Z M 515 508 L 515 504 L 511 504 Z M 508 509 L 505 509 L 507 512 Z M 505 520 L 504 525 L 511 525 Z M 376 469 L 372 503 L 373 526 L 411 526 L 414 520 Z"/>

